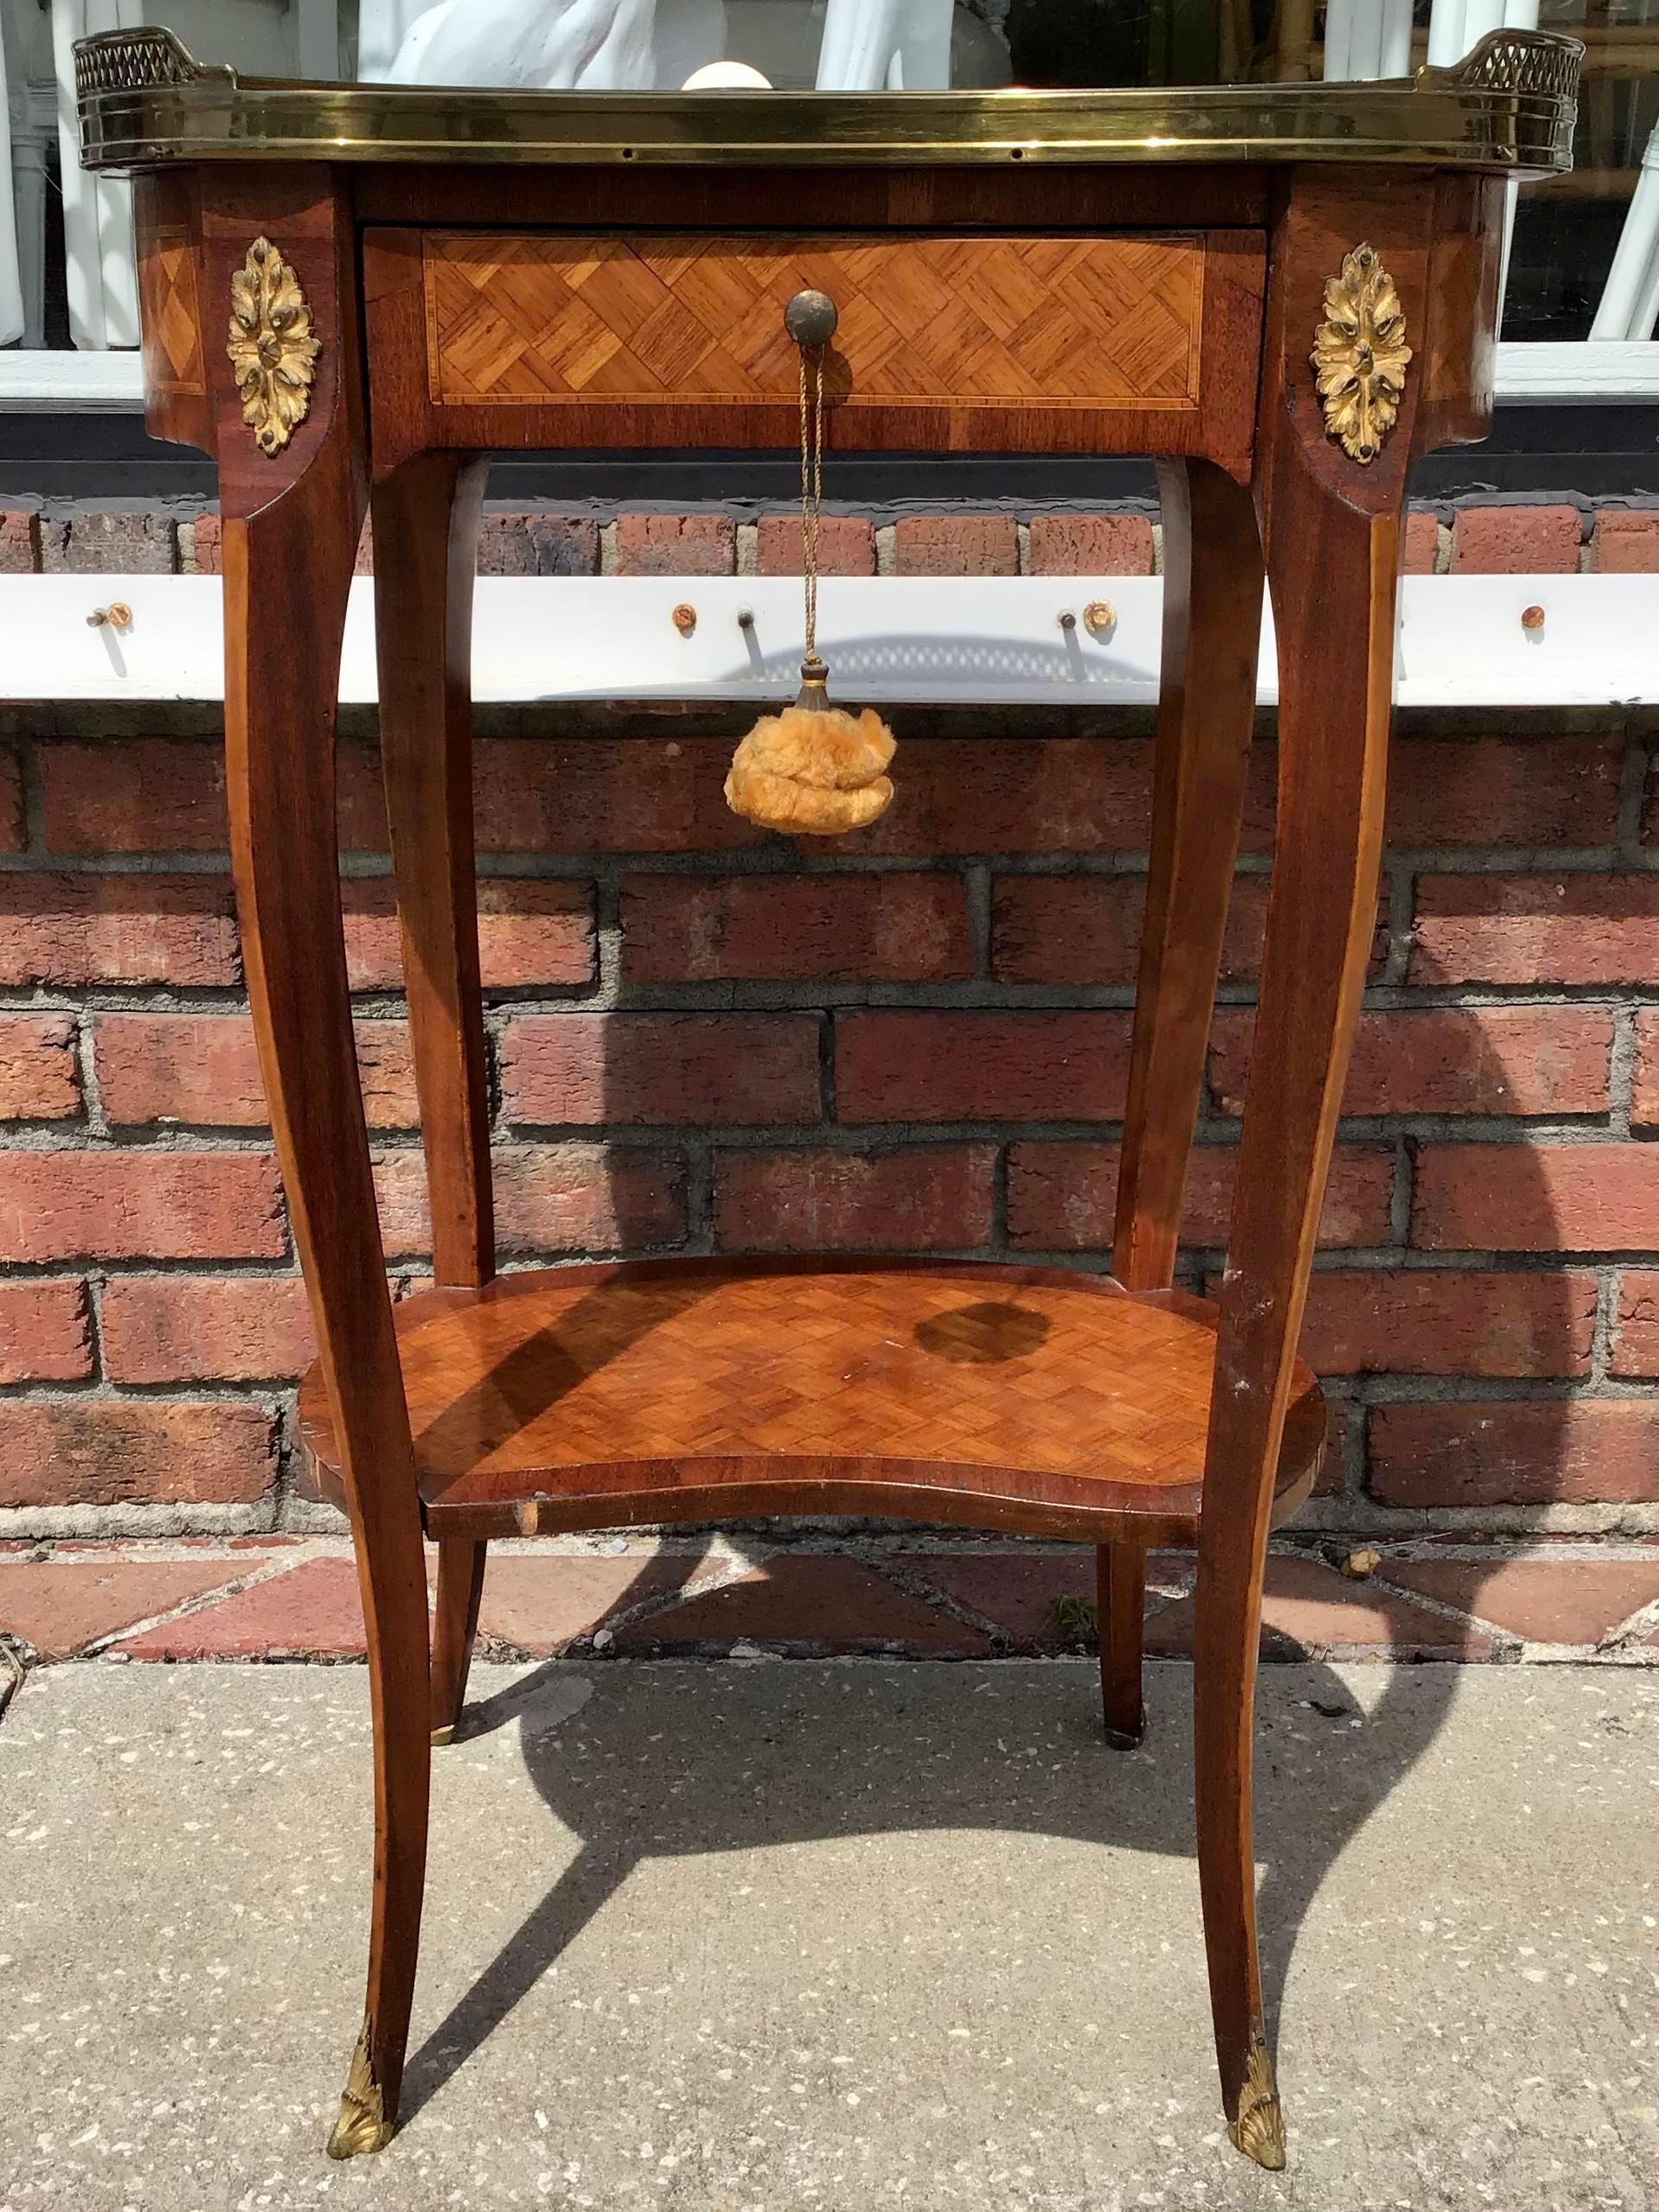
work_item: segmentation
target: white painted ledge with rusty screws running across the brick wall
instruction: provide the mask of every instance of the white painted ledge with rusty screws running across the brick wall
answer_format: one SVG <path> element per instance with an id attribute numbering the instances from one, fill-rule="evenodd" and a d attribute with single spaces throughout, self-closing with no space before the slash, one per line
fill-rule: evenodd
<path id="1" fill-rule="evenodd" d="M 111 602 L 133 628 L 88 628 Z M 1091 637 L 1084 608 L 1117 626 Z M 697 608 L 681 637 L 672 613 Z M 1157 577 L 827 577 L 821 646 L 847 701 L 1139 706 L 1157 697 Z M 1542 628 L 1522 613 L 1544 608 Z M 1062 613 L 1077 617 L 1073 628 Z M 741 615 L 752 622 L 743 624 Z M 217 577 L 0 577 L 0 699 L 221 699 Z M 476 697 L 787 699 L 801 586 L 787 577 L 484 577 Z M 1279 679 L 1272 626 L 1261 699 Z M 1659 701 L 1659 575 L 1447 575 L 1402 588 L 1402 706 Z M 341 699 L 374 699 L 374 586 L 352 586 Z"/>

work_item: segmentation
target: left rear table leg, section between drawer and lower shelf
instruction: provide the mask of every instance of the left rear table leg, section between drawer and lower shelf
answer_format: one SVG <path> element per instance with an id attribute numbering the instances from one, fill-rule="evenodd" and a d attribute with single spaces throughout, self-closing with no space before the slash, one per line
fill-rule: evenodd
<path id="1" fill-rule="evenodd" d="M 374 487 L 380 763 L 440 1283 L 495 1274 L 478 980 L 471 628 L 489 462 L 422 453 Z"/>

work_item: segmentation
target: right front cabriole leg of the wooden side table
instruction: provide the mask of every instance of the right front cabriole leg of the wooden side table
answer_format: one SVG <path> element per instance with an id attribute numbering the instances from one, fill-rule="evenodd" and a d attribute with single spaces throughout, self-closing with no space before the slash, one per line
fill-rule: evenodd
<path id="1" fill-rule="evenodd" d="M 1307 374 L 1323 285 L 1363 239 L 1427 334 L 1433 186 L 1292 175 L 1272 246 L 1256 507 L 1279 635 L 1279 816 L 1228 1225 L 1194 1648 L 1199 1874 L 1221 2093 L 1261 2095 L 1252 1730 L 1261 1573 L 1336 1115 L 1376 927 L 1400 507 L 1416 385 L 1363 467 Z M 1252 2055 L 1256 2057 L 1254 2088 Z M 1276 2095 L 1274 2095 L 1276 2117 Z M 1283 2128 L 1279 2128 L 1283 2163 Z"/>

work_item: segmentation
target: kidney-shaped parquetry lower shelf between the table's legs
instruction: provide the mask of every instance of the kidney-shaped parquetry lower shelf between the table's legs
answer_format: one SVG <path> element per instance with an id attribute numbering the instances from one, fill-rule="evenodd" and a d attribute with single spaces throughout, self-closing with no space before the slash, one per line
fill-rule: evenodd
<path id="1" fill-rule="evenodd" d="M 878 1261 L 560 1267 L 398 1307 L 434 1535 L 858 1513 L 1190 1542 L 1214 1327 L 1181 1292 Z M 341 1500 L 316 1369 L 301 1440 Z M 1323 1449 L 1298 1365 L 1276 1520 Z"/>

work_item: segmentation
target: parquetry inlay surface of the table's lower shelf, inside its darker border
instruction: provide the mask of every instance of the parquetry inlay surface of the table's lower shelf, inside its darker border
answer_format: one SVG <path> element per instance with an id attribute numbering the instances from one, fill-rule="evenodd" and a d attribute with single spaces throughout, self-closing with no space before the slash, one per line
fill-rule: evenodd
<path id="1" fill-rule="evenodd" d="M 872 1267 L 613 1270 L 434 1292 L 398 1343 L 422 1493 L 484 1478 L 557 1491 L 557 1471 L 792 1462 L 843 1473 L 987 1469 L 1170 1489 L 1203 1469 L 1214 1327 L 1206 1310 L 1064 1274 Z M 1298 1396 L 1312 1391 L 1298 1371 Z M 307 1442 L 330 1460 L 319 1394 Z M 670 1475 L 670 1480 L 677 1480 Z"/>

